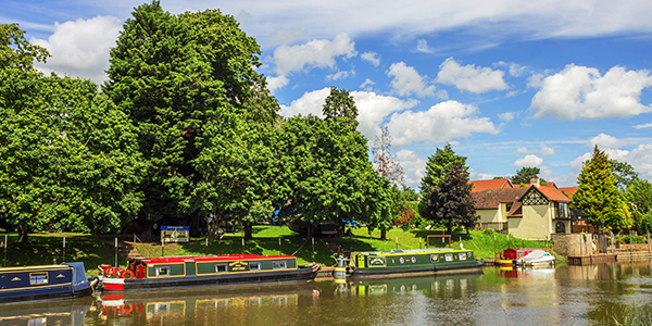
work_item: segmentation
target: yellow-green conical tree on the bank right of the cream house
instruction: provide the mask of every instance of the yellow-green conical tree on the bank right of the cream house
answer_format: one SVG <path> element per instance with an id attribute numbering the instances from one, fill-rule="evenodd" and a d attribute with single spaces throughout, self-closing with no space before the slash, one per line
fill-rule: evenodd
<path id="1" fill-rule="evenodd" d="M 570 209 L 582 210 L 584 215 L 593 226 L 603 225 L 607 229 L 622 229 L 631 226 L 627 205 L 616 188 L 611 163 L 604 151 L 595 146 L 593 156 L 584 164 L 577 177 L 579 187 Z"/>

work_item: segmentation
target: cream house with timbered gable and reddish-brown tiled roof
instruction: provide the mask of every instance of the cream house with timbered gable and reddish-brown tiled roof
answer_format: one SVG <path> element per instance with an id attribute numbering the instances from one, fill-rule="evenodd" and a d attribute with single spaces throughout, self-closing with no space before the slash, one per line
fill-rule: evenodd
<path id="1" fill-rule="evenodd" d="M 551 234 L 570 233 L 566 197 L 554 184 L 482 189 L 471 193 L 480 216 L 478 226 L 499 229 L 518 238 L 550 239 Z"/>

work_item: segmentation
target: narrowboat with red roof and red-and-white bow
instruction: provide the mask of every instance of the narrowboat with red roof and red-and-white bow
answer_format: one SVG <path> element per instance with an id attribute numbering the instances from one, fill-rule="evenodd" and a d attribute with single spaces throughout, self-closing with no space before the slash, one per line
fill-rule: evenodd
<path id="1" fill-rule="evenodd" d="M 127 269 L 100 266 L 104 291 L 310 280 L 319 265 L 293 255 L 225 254 L 130 260 Z"/>

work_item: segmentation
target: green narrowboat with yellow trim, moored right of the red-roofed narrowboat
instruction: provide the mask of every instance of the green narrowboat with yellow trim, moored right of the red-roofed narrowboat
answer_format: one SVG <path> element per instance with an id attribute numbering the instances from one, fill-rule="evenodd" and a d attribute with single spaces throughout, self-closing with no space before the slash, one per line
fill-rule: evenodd
<path id="1" fill-rule="evenodd" d="M 351 277 L 418 276 L 481 273 L 482 260 L 472 250 L 450 248 L 352 252 Z"/>

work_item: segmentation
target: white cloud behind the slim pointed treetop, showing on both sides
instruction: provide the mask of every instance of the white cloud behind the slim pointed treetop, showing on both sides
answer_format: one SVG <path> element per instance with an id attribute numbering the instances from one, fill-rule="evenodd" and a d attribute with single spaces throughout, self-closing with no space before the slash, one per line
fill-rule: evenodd
<path id="1" fill-rule="evenodd" d="M 300 99 L 292 101 L 289 106 L 280 105 L 280 115 L 287 117 L 297 114 L 313 114 L 323 117 L 322 109 L 329 93 L 330 88 L 328 87 L 305 92 Z M 358 108 L 358 121 L 360 122 L 358 129 L 369 141 L 380 135 L 379 126 L 387 115 L 411 109 L 417 104 L 415 100 L 402 101 L 394 97 L 381 96 L 371 91 L 351 91 L 350 95 Z"/>

